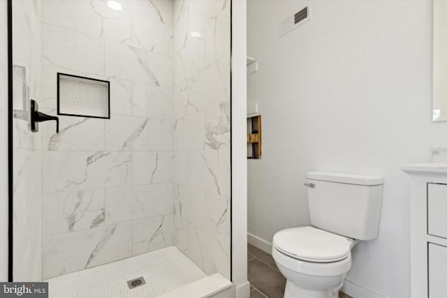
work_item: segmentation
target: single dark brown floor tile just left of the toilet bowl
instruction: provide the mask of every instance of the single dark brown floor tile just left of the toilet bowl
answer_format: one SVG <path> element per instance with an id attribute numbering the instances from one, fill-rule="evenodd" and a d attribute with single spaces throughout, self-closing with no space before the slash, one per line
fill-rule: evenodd
<path id="1" fill-rule="evenodd" d="M 269 298 L 283 298 L 286 278 L 261 260 L 248 262 L 249 282 Z"/>

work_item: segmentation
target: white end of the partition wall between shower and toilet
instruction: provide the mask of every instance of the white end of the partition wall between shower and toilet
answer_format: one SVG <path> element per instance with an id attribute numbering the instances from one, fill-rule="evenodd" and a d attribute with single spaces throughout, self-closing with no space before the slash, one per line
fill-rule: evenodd
<path id="1" fill-rule="evenodd" d="M 236 297 L 245 298 L 250 295 L 247 281 L 247 137 L 244 129 L 247 114 L 247 1 L 233 0 L 231 3 L 232 281 L 236 285 Z"/>

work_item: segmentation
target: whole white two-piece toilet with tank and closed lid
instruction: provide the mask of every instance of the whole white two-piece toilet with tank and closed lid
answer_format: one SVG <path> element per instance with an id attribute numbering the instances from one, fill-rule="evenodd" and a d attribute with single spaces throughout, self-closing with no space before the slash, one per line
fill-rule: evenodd
<path id="1" fill-rule="evenodd" d="M 383 178 L 308 172 L 310 226 L 274 234 L 272 257 L 286 278 L 284 298 L 338 298 L 351 248 L 377 237 Z"/>

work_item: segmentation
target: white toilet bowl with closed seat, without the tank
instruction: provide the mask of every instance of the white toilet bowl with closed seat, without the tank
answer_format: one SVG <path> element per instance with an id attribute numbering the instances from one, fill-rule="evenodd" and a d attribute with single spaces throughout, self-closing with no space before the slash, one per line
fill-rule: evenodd
<path id="1" fill-rule="evenodd" d="M 313 227 L 275 234 L 272 257 L 286 278 L 284 298 L 338 298 L 357 242 Z"/>

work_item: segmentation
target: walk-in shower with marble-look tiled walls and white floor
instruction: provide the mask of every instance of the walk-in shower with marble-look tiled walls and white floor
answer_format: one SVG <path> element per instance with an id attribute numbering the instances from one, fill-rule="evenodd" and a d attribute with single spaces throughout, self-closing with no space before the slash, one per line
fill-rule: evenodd
<path id="1" fill-rule="evenodd" d="M 14 281 L 230 285 L 230 6 L 12 1 Z"/>

